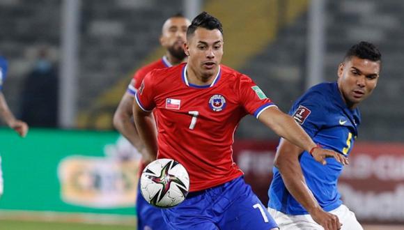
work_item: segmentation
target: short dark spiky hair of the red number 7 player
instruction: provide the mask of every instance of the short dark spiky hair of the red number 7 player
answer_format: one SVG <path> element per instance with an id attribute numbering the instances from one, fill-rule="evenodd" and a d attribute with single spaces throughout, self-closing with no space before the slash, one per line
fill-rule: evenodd
<path id="1" fill-rule="evenodd" d="M 213 17 L 205 11 L 196 16 L 194 20 L 192 20 L 191 25 L 188 26 L 187 38 L 194 34 L 198 27 L 202 27 L 208 30 L 218 29 L 223 35 L 222 23 L 220 23 L 220 21 L 216 17 Z"/>

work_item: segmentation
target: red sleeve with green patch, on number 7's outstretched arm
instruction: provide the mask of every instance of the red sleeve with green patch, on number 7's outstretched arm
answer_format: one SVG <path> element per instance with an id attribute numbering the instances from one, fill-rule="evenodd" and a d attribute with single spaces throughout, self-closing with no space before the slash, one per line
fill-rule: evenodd
<path id="1" fill-rule="evenodd" d="M 240 77 L 238 91 L 240 102 L 244 109 L 256 118 L 268 107 L 276 106 L 253 80 L 246 75 Z"/>

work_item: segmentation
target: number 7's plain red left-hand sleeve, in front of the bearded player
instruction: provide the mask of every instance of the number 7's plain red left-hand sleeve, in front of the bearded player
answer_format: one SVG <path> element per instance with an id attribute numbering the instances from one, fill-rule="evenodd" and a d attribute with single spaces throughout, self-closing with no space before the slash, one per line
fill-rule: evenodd
<path id="1" fill-rule="evenodd" d="M 136 101 L 143 111 L 150 112 L 155 107 L 153 90 L 153 72 L 149 72 L 140 84 L 139 90 L 136 93 Z"/>

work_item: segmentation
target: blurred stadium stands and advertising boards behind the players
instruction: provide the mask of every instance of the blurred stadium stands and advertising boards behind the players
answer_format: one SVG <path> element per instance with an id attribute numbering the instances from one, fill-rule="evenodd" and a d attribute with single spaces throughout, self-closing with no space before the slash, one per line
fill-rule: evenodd
<path id="1" fill-rule="evenodd" d="M 24 80 L 35 53 L 47 47 L 59 66 L 54 87 L 60 114 L 59 125 L 31 128 L 26 139 L 0 130 L 6 179 L 0 229 L 41 224 L 29 221 L 65 222 L 66 229 L 117 229 L 109 224 L 134 229 L 130 204 L 136 178 L 127 181 L 137 159 L 121 160 L 129 150 L 112 128 L 112 114 L 134 70 L 164 54 L 158 37 L 166 17 L 182 11 L 192 18 L 201 10 L 224 24 L 223 63 L 253 78 L 283 111 L 306 87 L 336 79 L 352 43 L 368 40 L 380 47 L 382 75 L 360 106 L 358 144 L 340 189 L 363 222 L 404 228 L 404 2 L 0 0 L 0 54 L 10 62 L 3 93 L 10 108 L 17 117 L 26 115 Z M 235 157 L 263 200 L 276 142 L 252 117 L 244 118 L 236 133 Z M 63 181 L 80 170 L 84 176 L 77 181 L 84 187 Z"/>

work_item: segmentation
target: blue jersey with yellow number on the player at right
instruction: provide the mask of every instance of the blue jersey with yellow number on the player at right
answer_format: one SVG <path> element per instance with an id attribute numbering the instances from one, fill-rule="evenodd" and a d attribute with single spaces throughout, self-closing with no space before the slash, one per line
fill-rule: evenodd
<path id="1" fill-rule="evenodd" d="M 359 109 L 347 107 L 336 82 L 313 86 L 293 104 L 289 114 L 316 144 L 345 156 L 350 154 L 357 137 L 360 113 Z M 343 165 L 334 158 L 327 158 L 326 165 L 320 164 L 306 151 L 299 159 L 307 186 L 320 206 L 325 211 L 338 208 L 342 201 L 336 183 Z M 308 214 L 288 192 L 276 167 L 273 173 L 268 206 L 288 215 Z"/>

